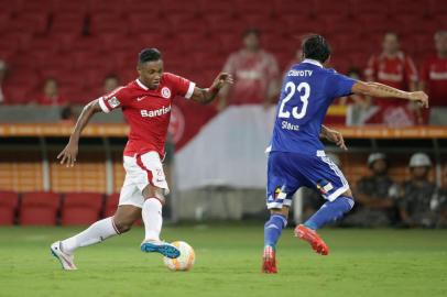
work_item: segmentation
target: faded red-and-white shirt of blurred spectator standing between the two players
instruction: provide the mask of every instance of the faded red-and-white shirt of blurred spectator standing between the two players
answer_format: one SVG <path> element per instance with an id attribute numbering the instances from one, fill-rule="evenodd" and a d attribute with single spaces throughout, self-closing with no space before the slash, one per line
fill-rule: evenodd
<path id="1" fill-rule="evenodd" d="M 269 96 L 271 82 L 280 75 L 280 68 L 273 55 L 259 51 L 248 53 L 244 50 L 230 55 L 224 72 L 235 77 L 229 105 L 259 105 Z"/>

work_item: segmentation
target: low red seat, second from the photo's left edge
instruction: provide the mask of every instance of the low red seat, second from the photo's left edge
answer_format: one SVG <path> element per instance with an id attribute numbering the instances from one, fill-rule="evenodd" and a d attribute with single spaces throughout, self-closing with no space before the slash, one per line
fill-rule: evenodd
<path id="1" fill-rule="evenodd" d="M 61 196 L 48 191 L 33 191 L 22 195 L 20 224 L 54 226 Z"/>

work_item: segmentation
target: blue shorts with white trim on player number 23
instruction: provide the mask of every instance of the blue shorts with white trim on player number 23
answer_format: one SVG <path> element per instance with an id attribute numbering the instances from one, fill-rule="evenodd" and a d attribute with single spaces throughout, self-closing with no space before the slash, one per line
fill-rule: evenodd
<path id="1" fill-rule="evenodd" d="M 291 206 L 293 195 L 301 187 L 316 189 L 329 201 L 349 189 L 344 174 L 324 151 L 317 151 L 315 155 L 271 152 L 268 163 L 268 209 Z"/>

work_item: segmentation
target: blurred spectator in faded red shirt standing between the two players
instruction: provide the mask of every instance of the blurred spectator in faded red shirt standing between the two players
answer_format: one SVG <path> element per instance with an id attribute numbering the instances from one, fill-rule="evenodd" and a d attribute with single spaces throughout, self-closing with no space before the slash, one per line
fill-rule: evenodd
<path id="1" fill-rule="evenodd" d="M 221 109 L 227 105 L 268 106 L 279 94 L 277 62 L 260 47 L 260 32 L 257 29 L 243 33 L 243 48 L 229 56 L 224 72 L 235 77 L 235 84 L 221 90 Z"/>

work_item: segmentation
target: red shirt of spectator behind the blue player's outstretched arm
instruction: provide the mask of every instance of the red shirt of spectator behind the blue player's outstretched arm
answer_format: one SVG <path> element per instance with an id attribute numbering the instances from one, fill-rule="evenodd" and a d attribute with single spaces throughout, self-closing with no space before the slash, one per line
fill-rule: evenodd
<path id="1" fill-rule="evenodd" d="M 413 59 L 402 52 L 393 58 L 384 54 L 372 56 L 368 62 L 364 74 L 368 80 L 373 80 L 401 90 L 408 90 L 410 82 L 417 81 L 417 70 Z M 407 102 L 400 99 L 385 99 L 378 100 L 377 103 L 381 107 L 390 107 L 403 106 Z"/>

